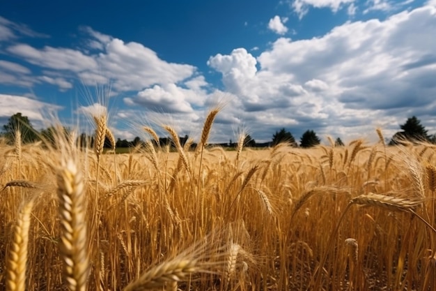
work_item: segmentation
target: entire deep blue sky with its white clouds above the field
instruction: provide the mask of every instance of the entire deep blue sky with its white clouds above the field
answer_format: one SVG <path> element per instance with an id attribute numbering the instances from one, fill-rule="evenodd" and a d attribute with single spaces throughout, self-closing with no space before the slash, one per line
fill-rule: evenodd
<path id="1" fill-rule="evenodd" d="M 91 130 L 104 97 L 116 137 L 198 137 L 221 101 L 215 142 L 374 140 L 412 115 L 436 133 L 435 96 L 436 0 L 0 3 L 0 124 L 54 112 Z"/>

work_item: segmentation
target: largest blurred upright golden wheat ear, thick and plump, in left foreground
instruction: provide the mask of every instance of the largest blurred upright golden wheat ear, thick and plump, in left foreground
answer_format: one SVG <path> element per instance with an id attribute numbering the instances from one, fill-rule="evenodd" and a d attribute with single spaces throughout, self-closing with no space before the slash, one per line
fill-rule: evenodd
<path id="1" fill-rule="evenodd" d="M 88 279 L 84 179 L 72 159 L 62 163 L 57 184 L 65 283 L 70 291 L 84 291 Z"/>

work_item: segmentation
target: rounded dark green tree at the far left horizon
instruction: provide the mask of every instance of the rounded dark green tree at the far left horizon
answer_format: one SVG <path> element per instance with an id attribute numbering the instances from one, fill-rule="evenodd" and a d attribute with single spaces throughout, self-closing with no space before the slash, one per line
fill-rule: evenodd
<path id="1" fill-rule="evenodd" d="M 33 128 L 29 118 L 23 116 L 21 112 L 13 114 L 8 119 L 8 123 L 3 125 L 3 133 L 8 142 L 13 142 L 17 130 L 20 130 L 21 140 L 24 144 L 38 140 L 37 131 Z"/>

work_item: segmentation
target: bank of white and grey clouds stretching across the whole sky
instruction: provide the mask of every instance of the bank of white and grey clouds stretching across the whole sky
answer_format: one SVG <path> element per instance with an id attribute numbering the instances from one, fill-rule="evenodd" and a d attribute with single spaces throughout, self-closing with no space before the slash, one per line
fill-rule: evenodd
<path id="1" fill-rule="evenodd" d="M 297 2 L 304 11 L 309 6 L 338 10 L 353 1 Z M 272 18 L 271 27 L 276 22 L 283 25 L 284 20 Z M 244 47 L 212 55 L 205 62 L 220 74 L 223 91 L 196 66 L 165 61 L 140 43 L 126 43 L 89 27 L 81 28 L 84 47 L 72 49 L 33 47 L 4 23 L 0 22 L 0 45 L 22 61 L 0 61 L 2 84 L 51 84 L 65 91 L 77 84 L 77 78 L 85 84 L 110 82 L 114 94 L 122 96 L 122 106 L 114 114 L 117 120 L 153 111 L 156 119 L 173 119 L 181 130 L 199 128 L 208 106 L 224 98 L 228 106 L 217 118 L 215 141 L 228 141 L 234 128 L 244 124 L 258 141 L 270 140 L 283 127 L 297 138 L 312 129 L 321 137 L 351 140 L 364 133 L 375 136 L 377 126 L 391 136 L 412 115 L 430 133 L 436 132 L 434 1 L 386 20 L 349 21 L 316 38 L 281 36 L 266 50 L 257 50 L 256 56 Z M 280 33 L 278 27 L 275 31 Z M 17 104 L 18 96 L 3 96 L 0 114 L 6 117 L 13 110 L 4 108 Z M 24 109 L 42 106 L 23 100 L 29 104 Z"/>

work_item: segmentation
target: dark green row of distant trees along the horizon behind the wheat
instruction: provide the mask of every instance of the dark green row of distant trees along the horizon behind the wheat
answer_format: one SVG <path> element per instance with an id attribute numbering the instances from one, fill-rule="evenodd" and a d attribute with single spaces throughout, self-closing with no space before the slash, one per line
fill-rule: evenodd
<path id="1" fill-rule="evenodd" d="M 430 142 L 436 144 L 436 135 L 428 135 L 428 130 L 426 130 L 425 126 L 421 124 L 421 121 L 415 116 L 407 119 L 405 124 L 400 125 L 401 131 L 398 131 L 394 134 L 394 136 L 389 141 L 390 145 L 400 144 L 401 142 Z M 17 131 L 18 130 L 18 131 Z M 64 134 L 68 135 L 70 130 L 68 128 L 63 128 Z M 8 119 L 8 123 L 3 125 L 3 130 L 1 135 L 6 137 L 8 142 L 13 142 L 15 134 L 19 132 L 21 135 L 21 140 L 24 144 L 37 142 L 38 140 L 44 140 L 45 142 L 54 142 L 54 134 L 56 133 L 56 129 L 53 127 L 45 128 L 40 130 L 34 129 L 29 121 L 29 118 L 23 116 L 20 112 L 14 114 L 12 117 Z M 185 137 L 179 137 L 180 144 L 182 146 L 189 139 L 188 135 Z M 86 133 L 81 133 L 77 138 L 77 142 L 81 147 L 93 147 L 94 137 L 92 135 L 86 135 Z M 153 141 L 156 145 L 164 146 L 164 145 L 173 145 L 173 141 L 169 137 L 161 137 L 159 141 Z M 281 128 L 277 130 L 272 135 L 272 140 L 270 142 L 264 143 L 256 143 L 256 141 L 250 136 L 246 135 L 244 139 L 244 147 L 270 147 L 281 142 L 287 142 L 292 147 L 315 147 L 320 144 L 321 140 L 313 130 L 306 130 L 302 137 L 299 139 L 299 143 L 295 140 L 295 137 L 290 133 L 290 131 L 285 128 Z M 144 142 L 140 137 L 135 137 L 134 140 L 121 140 L 118 138 L 116 141 L 117 148 L 125 148 L 125 147 L 138 147 L 143 145 Z M 235 142 L 222 143 L 217 144 L 221 147 L 236 147 L 238 144 Z M 335 140 L 336 147 L 343 146 L 343 142 L 340 137 L 337 137 Z M 111 143 L 109 140 L 104 142 L 104 147 L 110 148 Z M 196 144 L 192 144 L 192 147 L 195 148 Z"/>

